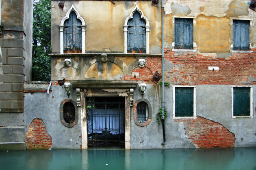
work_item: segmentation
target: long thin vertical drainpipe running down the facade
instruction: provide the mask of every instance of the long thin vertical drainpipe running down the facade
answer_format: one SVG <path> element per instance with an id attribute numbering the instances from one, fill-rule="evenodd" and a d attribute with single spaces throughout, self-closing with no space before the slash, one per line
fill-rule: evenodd
<path id="1" fill-rule="evenodd" d="M 164 77 L 165 77 L 165 72 L 164 72 L 164 60 L 165 60 L 165 57 L 164 57 L 164 29 L 163 29 L 163 13 L 164 13 L 164 7 L 163 7 L 163 0 L 161 0 L 162 2 L 162 5 L 161 5 L 161 13 L 162 13 L 162 110 L 163 110 L 163 113 L 162 113 L 162 117 L 163 117 L 163 120 L 162 120 L 162 125 L 163 125 L 163 143 L 165 143 L 165 117 L 164 117 L 164 113 L 165 113 L 165 93 L 164 93 Z"/>

